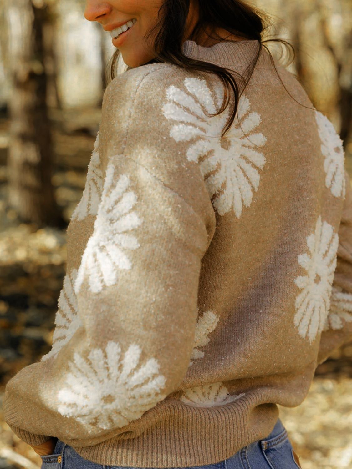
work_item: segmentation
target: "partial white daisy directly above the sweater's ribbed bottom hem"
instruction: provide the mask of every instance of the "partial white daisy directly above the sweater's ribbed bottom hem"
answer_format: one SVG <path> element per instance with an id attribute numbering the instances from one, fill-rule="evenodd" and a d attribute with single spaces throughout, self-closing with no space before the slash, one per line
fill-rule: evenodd
<path id="1" fill-rule="evenodd" d="M 245 393 L 231 395 L 227 387 L 220 382 L 185 389 L 180 401 L 192 407 L 215 407 L 236 401 L 244 395 Z"/>

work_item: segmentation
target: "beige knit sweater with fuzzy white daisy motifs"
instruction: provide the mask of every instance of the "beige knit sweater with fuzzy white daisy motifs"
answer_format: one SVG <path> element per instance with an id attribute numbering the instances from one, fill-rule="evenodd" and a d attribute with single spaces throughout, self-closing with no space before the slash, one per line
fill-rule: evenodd
<path id="1" fill-rule="evenodd" d="M 257 41 L 184 53 L 244 73 Z M 313 108 L 276 62 L 291 96 Z M 159 63 L 108 84 L 67 229 L 52 350 L 6 387 L 31 445 L 103 465 L 229 458 L 298 406 L 352 339 L 352 191 L 342 142 L 263 50 L 230 132 L 213 75 Z"/>

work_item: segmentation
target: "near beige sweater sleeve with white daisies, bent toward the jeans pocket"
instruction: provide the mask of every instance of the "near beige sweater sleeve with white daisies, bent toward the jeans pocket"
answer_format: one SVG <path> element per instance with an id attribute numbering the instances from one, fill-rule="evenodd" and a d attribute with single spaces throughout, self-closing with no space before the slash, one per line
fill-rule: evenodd
<path id="1" fill-rule="evenodd" d="M 168 138 L 160 78 L 168 68 L 141 69 L 105 91 L 96 218 L 90 228 L 91 215 L 80 217 L 68 231 L 77 250 L 89 232 L 77 263 L 67 262 L 76 331 L 6 386 L 6 422 L 31 445 L 54 436 L 91 446 L 129 433 L 190 365 L 215 214 L 199 166 Z"/>

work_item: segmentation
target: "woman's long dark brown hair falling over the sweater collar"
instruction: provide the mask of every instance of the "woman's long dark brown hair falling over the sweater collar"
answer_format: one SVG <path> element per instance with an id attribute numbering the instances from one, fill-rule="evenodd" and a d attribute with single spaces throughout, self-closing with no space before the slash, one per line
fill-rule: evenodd
<path id="1" fill-rule="evenodd" d="M 231 35 L 244 38 L 246 40 L 259 41 L 259 49 L 257 56 L 250 63 L 246 69 L 246 76 L 241 76 L 238 72 L 234 72 L 228 68 L 222 68 L 213 63 L 191 59 L 182 53 L 182 41 L 186 28 L 186 21 L 190 8 L 191 0 L 165 0 L 159 10 L 159 21 L 151 28 L 146 34 L 146 40 L 155 35 L 154 51 L 155 58 L 148 63 L 167 62 L 177 65 L 181 68 L 188 70 L 199 70 L 201 72 L 208 72 L 219 76 L 225 89 L 224 99 L 220 110 L 214 114 L 222 113 L 230 103 L 230 90 L 232 89 L 234 95 L 234 106 L 230 113 L 229 119 L 222 130 L 222 136 L 230 129 L 232 122 L 237 114 L 238 100 L 245 90 L 249 82 L 254 68 L 257 64 L 258 58 L 262 47 L 265 47 L 270 55 L 271 63 L 273 64 L 277 73 L 275 63 L 268 47 L 264 45 L 265 42 L 276 41 L 281 42 L 289 47 L 295 56 L 294 48 L 291 44 L 283 39 L 267 39 L 262 40 L 264 31 L 272 25 L 271 18 L 262 10 L 248 5 L 243 0 L 196 0 L 199 2 L 199 20 L 195 25 L 191 37 L 188 39 L 194 40 L 201 32 L 206 32 L 206 29 L 214 31 L 217 28 L 222 28 L 229 31 Z M 211 38 L 211 36 L 207 33 Z M 216 37 L 218 38 L 218 37 Z M 221 39 L 221 38 L 219 38 Z M 197 42 L 197 41 L 195 41 Z M 110 78 L 115 78 L 115 64 L 118 59 L 120 51 L 117 49 L 110 60 L 108 67 L 110 68 Z M 292 62 L 290 61 L 290 63 Z M 145 65 L 145 64 L 144 64 Z M 128 68 L 129 69 L 129 68 Z M 233 73 L 236 73 L 241 78 L 241 83 L 238 85 Z M 281 77 L 277 73 L 281 83 Z M 283 84 L 283 87 L 287 91 Z M 287 91 L 288 92 L 288 91 Z M 290 93 L 289 93 L 290 94 Z M 291 96 L 291 94 L 290 94 Z M 294 99 L 291 96 L 292 99 Z"/>

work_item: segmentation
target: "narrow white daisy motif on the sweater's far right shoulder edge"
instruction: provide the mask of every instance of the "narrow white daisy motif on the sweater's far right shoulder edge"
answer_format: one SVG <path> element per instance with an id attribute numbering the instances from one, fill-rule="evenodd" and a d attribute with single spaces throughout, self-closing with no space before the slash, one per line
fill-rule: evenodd
<path id="1" fill-rule="evenodd" d="M 315 111 L 315 120 L 321 139 L 321 153 L 324 156 L 325 186 L 333 196 L 345 198 L 343 142 L 324 114 Z"/>

